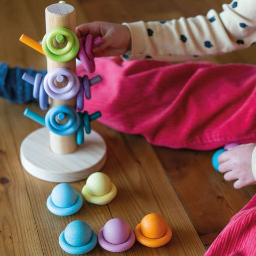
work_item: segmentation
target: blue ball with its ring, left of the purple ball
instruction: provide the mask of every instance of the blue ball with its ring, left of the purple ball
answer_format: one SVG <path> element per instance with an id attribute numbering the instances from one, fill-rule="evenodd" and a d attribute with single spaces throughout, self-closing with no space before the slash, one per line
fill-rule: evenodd
<path id="1" fill-rule="evenodd" d="M 86 222 L 75 220 L 62 231 L 59 244 L 67 253 L 84 254 L 94 249 L 97 244 L 97 235 Z"/>

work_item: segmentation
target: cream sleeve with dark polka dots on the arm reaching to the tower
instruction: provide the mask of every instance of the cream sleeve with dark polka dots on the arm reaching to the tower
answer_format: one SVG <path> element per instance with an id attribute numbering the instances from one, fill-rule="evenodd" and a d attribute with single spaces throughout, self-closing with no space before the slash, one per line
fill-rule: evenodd
<path id="1" fill-rule="evenodd" d="M 237 0 L 205 16 L 170 21 L 123 23 L 129 27 L 132 49 L 125 60 L 191 60 L 231 52 L 256 42 L 256 0 Z"/>

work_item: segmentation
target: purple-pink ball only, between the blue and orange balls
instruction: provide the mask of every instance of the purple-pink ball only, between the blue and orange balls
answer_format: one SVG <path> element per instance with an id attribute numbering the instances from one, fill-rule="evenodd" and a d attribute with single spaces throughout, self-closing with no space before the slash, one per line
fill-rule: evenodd
<path id="1" fill-rule="evenodd" d="M 109 220 L 103 228 L 103 237 L 111 244 L 122 244 L 130 236 L 130 228 L 121 219 Z"/>

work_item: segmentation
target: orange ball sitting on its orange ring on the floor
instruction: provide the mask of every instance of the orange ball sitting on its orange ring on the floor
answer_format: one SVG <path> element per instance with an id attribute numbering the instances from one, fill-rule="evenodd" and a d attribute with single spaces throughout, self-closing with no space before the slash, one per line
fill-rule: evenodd
<path id="1" fill-rule="evenodd" d="M 141 244 L 156 248 L 171 240 L 172 230 L 161 215 L 150 213 L 135 228 L 135 236 Z"/>

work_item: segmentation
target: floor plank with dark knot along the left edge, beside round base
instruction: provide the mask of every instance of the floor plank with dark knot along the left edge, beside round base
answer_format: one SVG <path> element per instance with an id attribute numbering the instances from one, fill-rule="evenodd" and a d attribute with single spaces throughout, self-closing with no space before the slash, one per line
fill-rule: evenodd
<path id="1" fill-rule="evenodd" d="M 10 104 L 0 99 L 0 255 L 43 255 L 33 205 L 27 194 L 13 130 Z M 4 112 L 2 112 L 4 111 Z M 4 134 L 4 135 L 3 135 Z M 21 209 L 23 209 L 21 211 Z M 25 211 L 24 211 L 25 210 Z"/>

